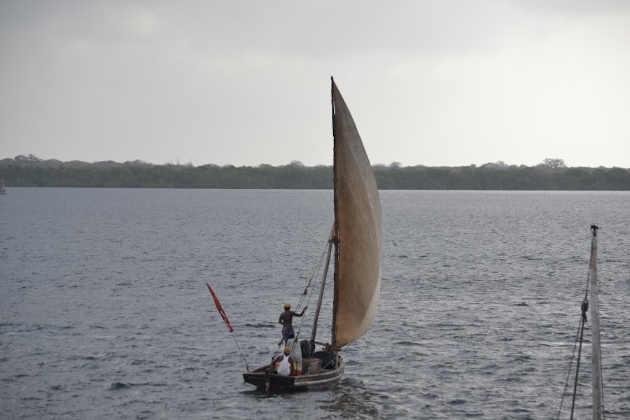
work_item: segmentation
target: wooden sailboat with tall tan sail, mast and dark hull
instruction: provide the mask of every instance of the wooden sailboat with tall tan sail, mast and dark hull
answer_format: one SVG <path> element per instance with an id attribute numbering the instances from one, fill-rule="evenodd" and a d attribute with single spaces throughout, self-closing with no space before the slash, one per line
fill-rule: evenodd
<path id="1" fill-rule="evenodd" d="M 324 345 L 322 351 L 303 359 L 300 376 L 281 376 L 271 365 L 243 374 L 248 384 L 266 391 L 326 388 L 337 384 L 345 367 L 339 352 L 370 329 L 379 304 L 383 252 L 379 191 L 350 111 L 335 80 L 330 80 L 335 222 L 328 241 L 311 342 L 316 342 L 317 321 L 334 245 L 332 334 L 330 342 L 316 342 Z"/>

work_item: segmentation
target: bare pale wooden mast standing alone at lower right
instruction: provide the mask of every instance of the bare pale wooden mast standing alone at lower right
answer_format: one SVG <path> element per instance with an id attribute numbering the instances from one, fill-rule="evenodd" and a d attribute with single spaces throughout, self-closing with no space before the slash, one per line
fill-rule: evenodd
<path id="1" fill-rule="evenodd" d="M 599 297 L 597 290 L 597 226 L 591 225 L 591 263 L 589 265 L 591 283 L 591 325 L 592 351 L 591 369 L 593 370 L 593 420 L 603 419 L 603 396 L 601 386 L 601 342 L 599 339 Z"/>

